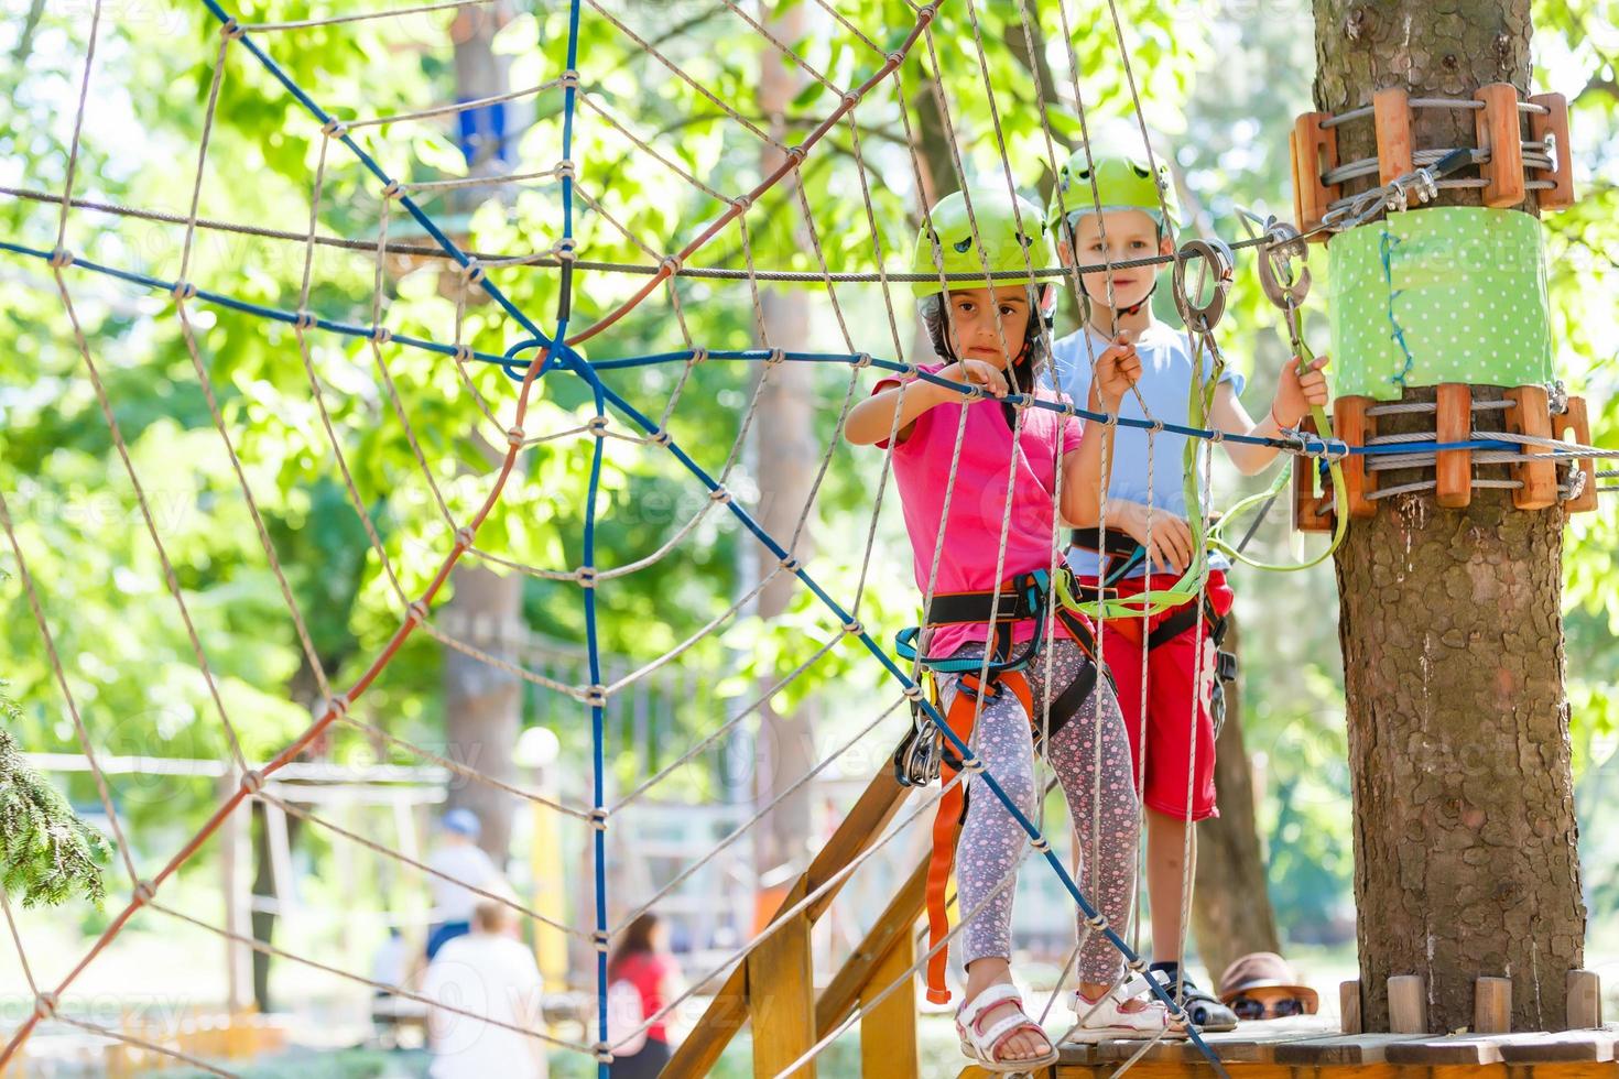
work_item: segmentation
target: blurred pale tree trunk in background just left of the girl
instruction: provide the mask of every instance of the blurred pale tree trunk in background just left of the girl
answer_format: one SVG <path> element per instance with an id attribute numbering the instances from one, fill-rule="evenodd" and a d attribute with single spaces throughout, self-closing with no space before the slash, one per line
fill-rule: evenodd
<path id="1" fill-rule="evenodd" d="M 761 15 L 771 19 L 774 5 L 761 3 Z M 779 19 L 771 19 L 771 31 L 785 42 L 795 42 L 803 34 L 803 8 L 793 6 Z M 759 112 L 769 121 L 769 131 L 777 141 L 785 141 L 784 112 L 798 92 L 800 76 L 795 68 L 782 63 L 774 45 L 766 45 L 759 57 Z M 782 157 L 772 147 L 764 149 L 761 168 L 769 171 L 780 165 Z M 793 193 L 797 176 L 780 183 L 784 214 L 798 217 L 798 196 Z M 808 249 L 805 236 L 803 249 Z M 771 348 L 792 348 L 808 338 L 810 307 L 803 291 L 761 290 L 761 333 Z M 819 437 L 814 424 L 814 369 L 810 364 L 776 364 L 759 367 L 764 379 L 759 393 L 759 413 L 753 422 L 754 468 L 759 482 L 759 524 L 787 547 L 798 514 L 805 510 L 810 487 L 814 482 Z M 779 563 L 763 545 L 754 545 L 759 578 L 779 569 Z M 792 553 L 805 561 L 813 555 L 810 523 L 798 537 Z M 776 618 L 787 610 L 798 589 L 792 574 L 777 576 L 759 594 L 761 618 Z M 767 683 L 761 683 L 764 691 Z M 803 704 L 792 715 L 782 715 L 769 704 L 759 710 L 759 741 L 754 754 L 754 804 L 766 806 L 787 786 L 797 783 L 816 764 L 814 705 Z M 759 822 L 754 833 L 753 861 L 766 882 L 792 880 L 810 853 L 810 788 L 801 786 L 787 796 L 780 806 Z"/>

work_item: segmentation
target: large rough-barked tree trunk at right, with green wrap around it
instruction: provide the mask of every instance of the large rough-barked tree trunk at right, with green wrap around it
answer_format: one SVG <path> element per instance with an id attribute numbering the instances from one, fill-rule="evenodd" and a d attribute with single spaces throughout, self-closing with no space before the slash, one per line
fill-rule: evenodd
<path id="1" fill-rule="evenodd" d="M 1472 97 L 1485 83 L 1528 84 L 1528 0 L 1316 0 L 1315 18 L 1315 99 L 1326 112 L 1363 105 L 1384 86 Z M 1376 155 L 1371 125 L 1337 131 L 1339 160 Z M 1475 146 L 1473 113 L 1417 110 L 1412 136 L 1417 149 Z M 1478 199 L 1462 189 L 1441 202 Z M 1433 400 L 1433 390 L 1405 396 Z M 1564 1027 L 1585 906 L 1561 555 L 1562 511 L 1517 511 L 1506 490 L 1477 490 L 1467 510 L 1443 510 L 1428 493 L 1386 498 L 1337 552 L 1368 1030 L 1387 1029 L 1394 974 L 1423 975 L 1434 1032 L 1472 1024 L 1480 975 L 1512 979 L 1514 1027 Z"/>

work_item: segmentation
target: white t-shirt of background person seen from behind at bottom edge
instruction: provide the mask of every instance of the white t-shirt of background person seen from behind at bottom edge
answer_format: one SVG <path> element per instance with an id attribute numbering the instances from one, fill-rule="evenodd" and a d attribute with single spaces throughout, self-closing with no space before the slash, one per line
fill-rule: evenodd
<path id="1" fill-rule="evenodd" d="M 476 1016 L 539 1030 L 541 980 L 534 954 L 512 937 L 470 933 L 447 941 L 421 995 Z M 434 1008 L 432 1079 L 546 1079 L 546 1043 L 457 1011 Z"/>

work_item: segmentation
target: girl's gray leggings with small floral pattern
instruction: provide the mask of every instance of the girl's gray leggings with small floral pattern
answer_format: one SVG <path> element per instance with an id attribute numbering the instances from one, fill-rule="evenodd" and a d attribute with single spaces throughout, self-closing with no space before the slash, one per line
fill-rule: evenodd
<path id="1" fill-rule="evenodd" d="M 1047 658 L 1049 652 L 1049 658 Z M 981 657 L 981 644 L 965 644 L 950 658 Z M 1028 686 L 1039 715 L 1046 707 L 1046 665 L 1051 663 L 1051 699 L 1062 696 L 1086 663 L 1085 654 L 1067 636 L 1047 642 L 1025 668 Z M 949 710 L 958 678 L 941 679 L 939 699 Z M 1098 741 L 1101 755 L 1098 757 Z M 1012 804 L 1035 819 L 1039 781 L 1035 776 L 1035 739 L 1030 718 L 1017 694 L 1007 691 L 986 700 L 973 728 L 973 752 L 996 776 Z M 1135 780 L 1130 768 L 1130 743 L 1125 734 L 1119 700 L 1106 678 L 1098 678 L 1096 692 L 1078 715 L 1049 739 L 1046 762 L 1057 773 L 1069 799 L 1069 815 L 1080 840 L 1081 872 L 1075 877 L 1085 898 L 1124 932 L 1135 893 L 1135 856 L 1140 835 Z M 1096 770 L 1101 765 L 1098 781 Z M 1093 802 L 1091 794 L 1099 798 Z M 1093 817 L 1094 814 L 1094 817 Z M 1043 835 L 1049 831 L 1043 830 Z M 1030 849 L 1028 833 L 1018 827 L 1001 799 L 981 783 L 968 778 L 967 823 L 955 848 L 955 885 L 963 914 L 973 911 L 1012 874 Z M 962 961 L 1012 958 L 1012 895 L 1007 885 L 962 932 Z M 1085 932 L 1083 916 L 1078 919 Z M 1101 933 L 1090 933 L 1080 950 L 1081 982 L 1112 982 L 1122 964 L 1119 951 Z"/>

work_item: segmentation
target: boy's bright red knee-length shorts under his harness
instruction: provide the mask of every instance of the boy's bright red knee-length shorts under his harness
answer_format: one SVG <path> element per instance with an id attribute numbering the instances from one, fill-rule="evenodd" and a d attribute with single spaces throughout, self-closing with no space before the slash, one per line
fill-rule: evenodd
<path id="1" fill-rule="evenodd" d="M 1177 579 L 1172 574 L 1154 574 L 1148 584 L 1146 578 L 1127 578 L 1117 587 L 1120 595 L 1135 595 L 1143 587 L 1172 587 Z M 1094 590 L 1096 578 L 1081 578 L 1081 584 Z M 1230 610 L 1234 595 L 1230 586 L 1226 584 L 1226 574 L 1219 569 L 1209 571 L 1208 597 L 1216 613 L 1224 615 Z M 1148 633 L 1171 615 L 1174 615 L 1172 610 L 1148 618 Z M 1114 684 L 1119 689 L 1119 707 L 1124 710 L 1124 725 L 1130 733 L 1135 773 L 1143 776 L 1141 801 L 1148 809 L 1185 820 L 1190 786 L 1190 819 L 1217 817 L 1219 810 L 1214 807 L 1214 720 L 1209 717 L 1214 645 L 1209 641 L 1208 626 L 1203 626 L 1201 631 L 1198 626 L 1192 626 L 1148 654 L 1145 738 L 1141 713 L 1141 641 L 1145 634 L 1141 633 L 1141 620 L 1109 620 L 1101 637 L 1103 658 L 1107 662 L 1107 670 L 1112 671 Z M 1205 652 L 1201 663 L 1196 662 L 1200 645 Z M 1193 671 L 1201 675 L 1203 683 L 1201 692 L 1196 694 L 1195 718 L 1192 712 Z"/>

